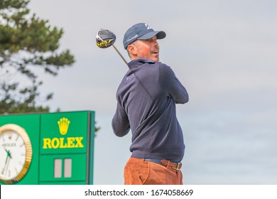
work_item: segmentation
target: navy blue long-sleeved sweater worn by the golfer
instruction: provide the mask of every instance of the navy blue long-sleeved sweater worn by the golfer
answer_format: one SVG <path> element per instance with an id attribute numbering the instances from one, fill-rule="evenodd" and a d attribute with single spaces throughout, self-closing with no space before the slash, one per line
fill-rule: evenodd
<path id="1" fill-rule="evenodd" d="M 168 65 L 132 60 L 116 99 L 112 127 L 116 136 L 131 129 L 131 156 L 183 159 L 185 144 L 175 104 L 188 102 L 188 92 Z"/>

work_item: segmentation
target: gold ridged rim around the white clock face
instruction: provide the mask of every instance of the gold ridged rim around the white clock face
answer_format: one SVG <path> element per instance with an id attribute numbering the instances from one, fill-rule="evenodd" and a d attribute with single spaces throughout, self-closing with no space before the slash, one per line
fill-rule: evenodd
<path id="1" fill-rule="evenodd" d="M 4 126 L 0 127 L 0 136 L 1 136 L 1 134 L 4 134 L 4 132 L 6 132 L 6 131 L 15 131 L 17 134 L 19 134 L 22 137 L 23 142 L 26 147 L 26 158 L 25 158 L 25 163 L 23 165 L 21 172 L 19 172 L 16 177 L 8 179 L 8 180 L 1 179 L 1 177 L 0 177 L 1 183 L 13 184 L 18 181 L 21 181 L 21 179 L 28 172 L 30 165 L 31 165 L 32 157 L 33 157 L 33 149 L 32 149 L 32 145 L 31 145 L 31 140 L 30 140 L 27 132 L 25 131 L 25 129 L 18 126 L 17 124 L 5 124 Z"/>

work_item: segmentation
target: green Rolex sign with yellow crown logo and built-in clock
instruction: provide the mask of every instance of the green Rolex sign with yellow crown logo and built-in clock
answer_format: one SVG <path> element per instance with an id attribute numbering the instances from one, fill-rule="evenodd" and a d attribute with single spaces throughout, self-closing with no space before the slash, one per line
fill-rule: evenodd
<path id="1" fill-rule="evenodd" d="M 0 116 L 0 184 L 92 184 L 94 112 Z"/>

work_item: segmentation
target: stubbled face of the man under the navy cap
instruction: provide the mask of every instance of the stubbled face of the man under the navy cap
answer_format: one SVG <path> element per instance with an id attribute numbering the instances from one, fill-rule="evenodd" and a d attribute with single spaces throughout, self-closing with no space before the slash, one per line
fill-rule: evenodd
<path id="1" fill-rule="evenodd" d="M 137 40 L 133 44 L 136 47 L 136 58 L 153 60 L 153 62 L 158 62 L 160 60 L 156 36 L 147 40 Z"/>

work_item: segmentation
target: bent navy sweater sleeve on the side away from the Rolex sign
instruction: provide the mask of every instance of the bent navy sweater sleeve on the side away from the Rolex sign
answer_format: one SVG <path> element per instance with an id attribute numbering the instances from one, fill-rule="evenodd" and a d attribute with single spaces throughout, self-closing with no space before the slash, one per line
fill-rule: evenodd
<path id="1" fill-rule="evenodd" d="M 168 66 L 161 64 L 159 67 L 159 82 L 163 90 L 168 93 L 169 97 L 173 97 L 176 104 L 185 104 L 188 102 L 188 92 L 182 83 L 175 76 L 173 70 Z"/>

